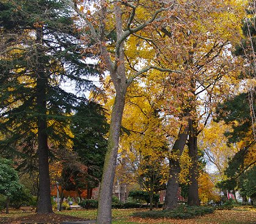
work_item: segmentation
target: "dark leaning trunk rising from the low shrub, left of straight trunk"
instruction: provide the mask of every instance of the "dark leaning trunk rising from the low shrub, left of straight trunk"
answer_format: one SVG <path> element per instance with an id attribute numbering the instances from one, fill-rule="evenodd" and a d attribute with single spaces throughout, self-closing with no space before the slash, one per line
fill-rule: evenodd
<path id="1" fill-rule="evenodd" d="M 188 137 L 188 127 L 180 127 L 179 135 L 175 141 L 172 152 L 182 154 Z M 166 188 L 165 204 L 163 209 L 174 209 L 178 206 L 178 189 L 180 165 L 179 160 L 169 159 L 169 178 Z"/>

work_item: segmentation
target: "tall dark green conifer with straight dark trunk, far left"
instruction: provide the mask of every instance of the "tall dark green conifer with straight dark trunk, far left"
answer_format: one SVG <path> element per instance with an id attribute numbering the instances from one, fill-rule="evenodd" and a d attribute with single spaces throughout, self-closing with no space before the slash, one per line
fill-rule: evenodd
<path id="1" fill-rule="evenodd" d="M 0 1 L 0 151 L 21 158 L 20 168 L 38 166 L 37 211 L 47 213 L 51 147 L 65 148 L 70 114 L 85 101 L 66 92 L 63 83 L 76 83 L 73 91 L 83 92 L 92 87 L 87 76 L 97 71 L 82 58 L 73 13 L 62 2 L 12 2 Z"/>

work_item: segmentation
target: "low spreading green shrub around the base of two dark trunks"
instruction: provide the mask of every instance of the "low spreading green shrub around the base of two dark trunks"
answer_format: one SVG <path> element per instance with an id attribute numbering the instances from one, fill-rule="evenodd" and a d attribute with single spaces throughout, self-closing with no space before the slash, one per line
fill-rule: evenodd
<path id="1" fill-rule="evenodd" d="M 203 216 L 205 214 L 212 213 L 214 208 L 206 206 L 180 206 L 173 210 L 162 211 L 146 211 L 135 212 L 133 216 L 141 218 L 175 218 L 175 219 L 189 219 L 196 216 Z"/>

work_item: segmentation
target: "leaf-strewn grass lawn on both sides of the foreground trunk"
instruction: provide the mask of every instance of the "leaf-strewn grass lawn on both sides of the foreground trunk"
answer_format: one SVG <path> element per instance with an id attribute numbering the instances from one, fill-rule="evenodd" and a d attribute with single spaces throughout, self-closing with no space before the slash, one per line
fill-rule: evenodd
<path id="1" fill-rule="evenodd" d="M 215 211 L 213 214 L 207 214 L 202 217 L 194 219 L 142 219 L 138 217 L 131 217 L 135 211 L 144 211 L 145 209 L 113 209 L 112 217 L 113 224 L 256 224 L 256 208 L 249 208 L 248 206 L 238 206 L 232 210 Z M 0 223 L 9 222 L 10 218 L 18 218 L 21 216 L 31 216 L 34 212 L 10 211 L 10 214 L 5 214 L 4 211 L 0 213 Z M 55 212 L 55 216 L 66 215 L 75 216 L 83 219 L 96 219 L 96 209 L 85 210 L 68 210 Z M 20 218 L 18 218 L 20 219 Z M 47 219 L 47 217 L 46 217 Z M 21 222 L 17 222 L 21 223 Z M 15 222 L 16 224 L 16 222 Z"/>

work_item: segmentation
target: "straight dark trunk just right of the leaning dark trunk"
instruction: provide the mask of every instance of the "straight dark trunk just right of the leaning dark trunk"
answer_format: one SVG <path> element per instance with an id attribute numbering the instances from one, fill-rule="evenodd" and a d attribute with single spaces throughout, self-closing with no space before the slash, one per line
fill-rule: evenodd
<path id="1" fill-rule="evenodd" d="M 188 205 L 200 205 L 198 194 L 198 155 L 197 155 L 197 124 L 189 120 L 188 155 L 191 158 L 190 183 L 188 185 Z"/>

